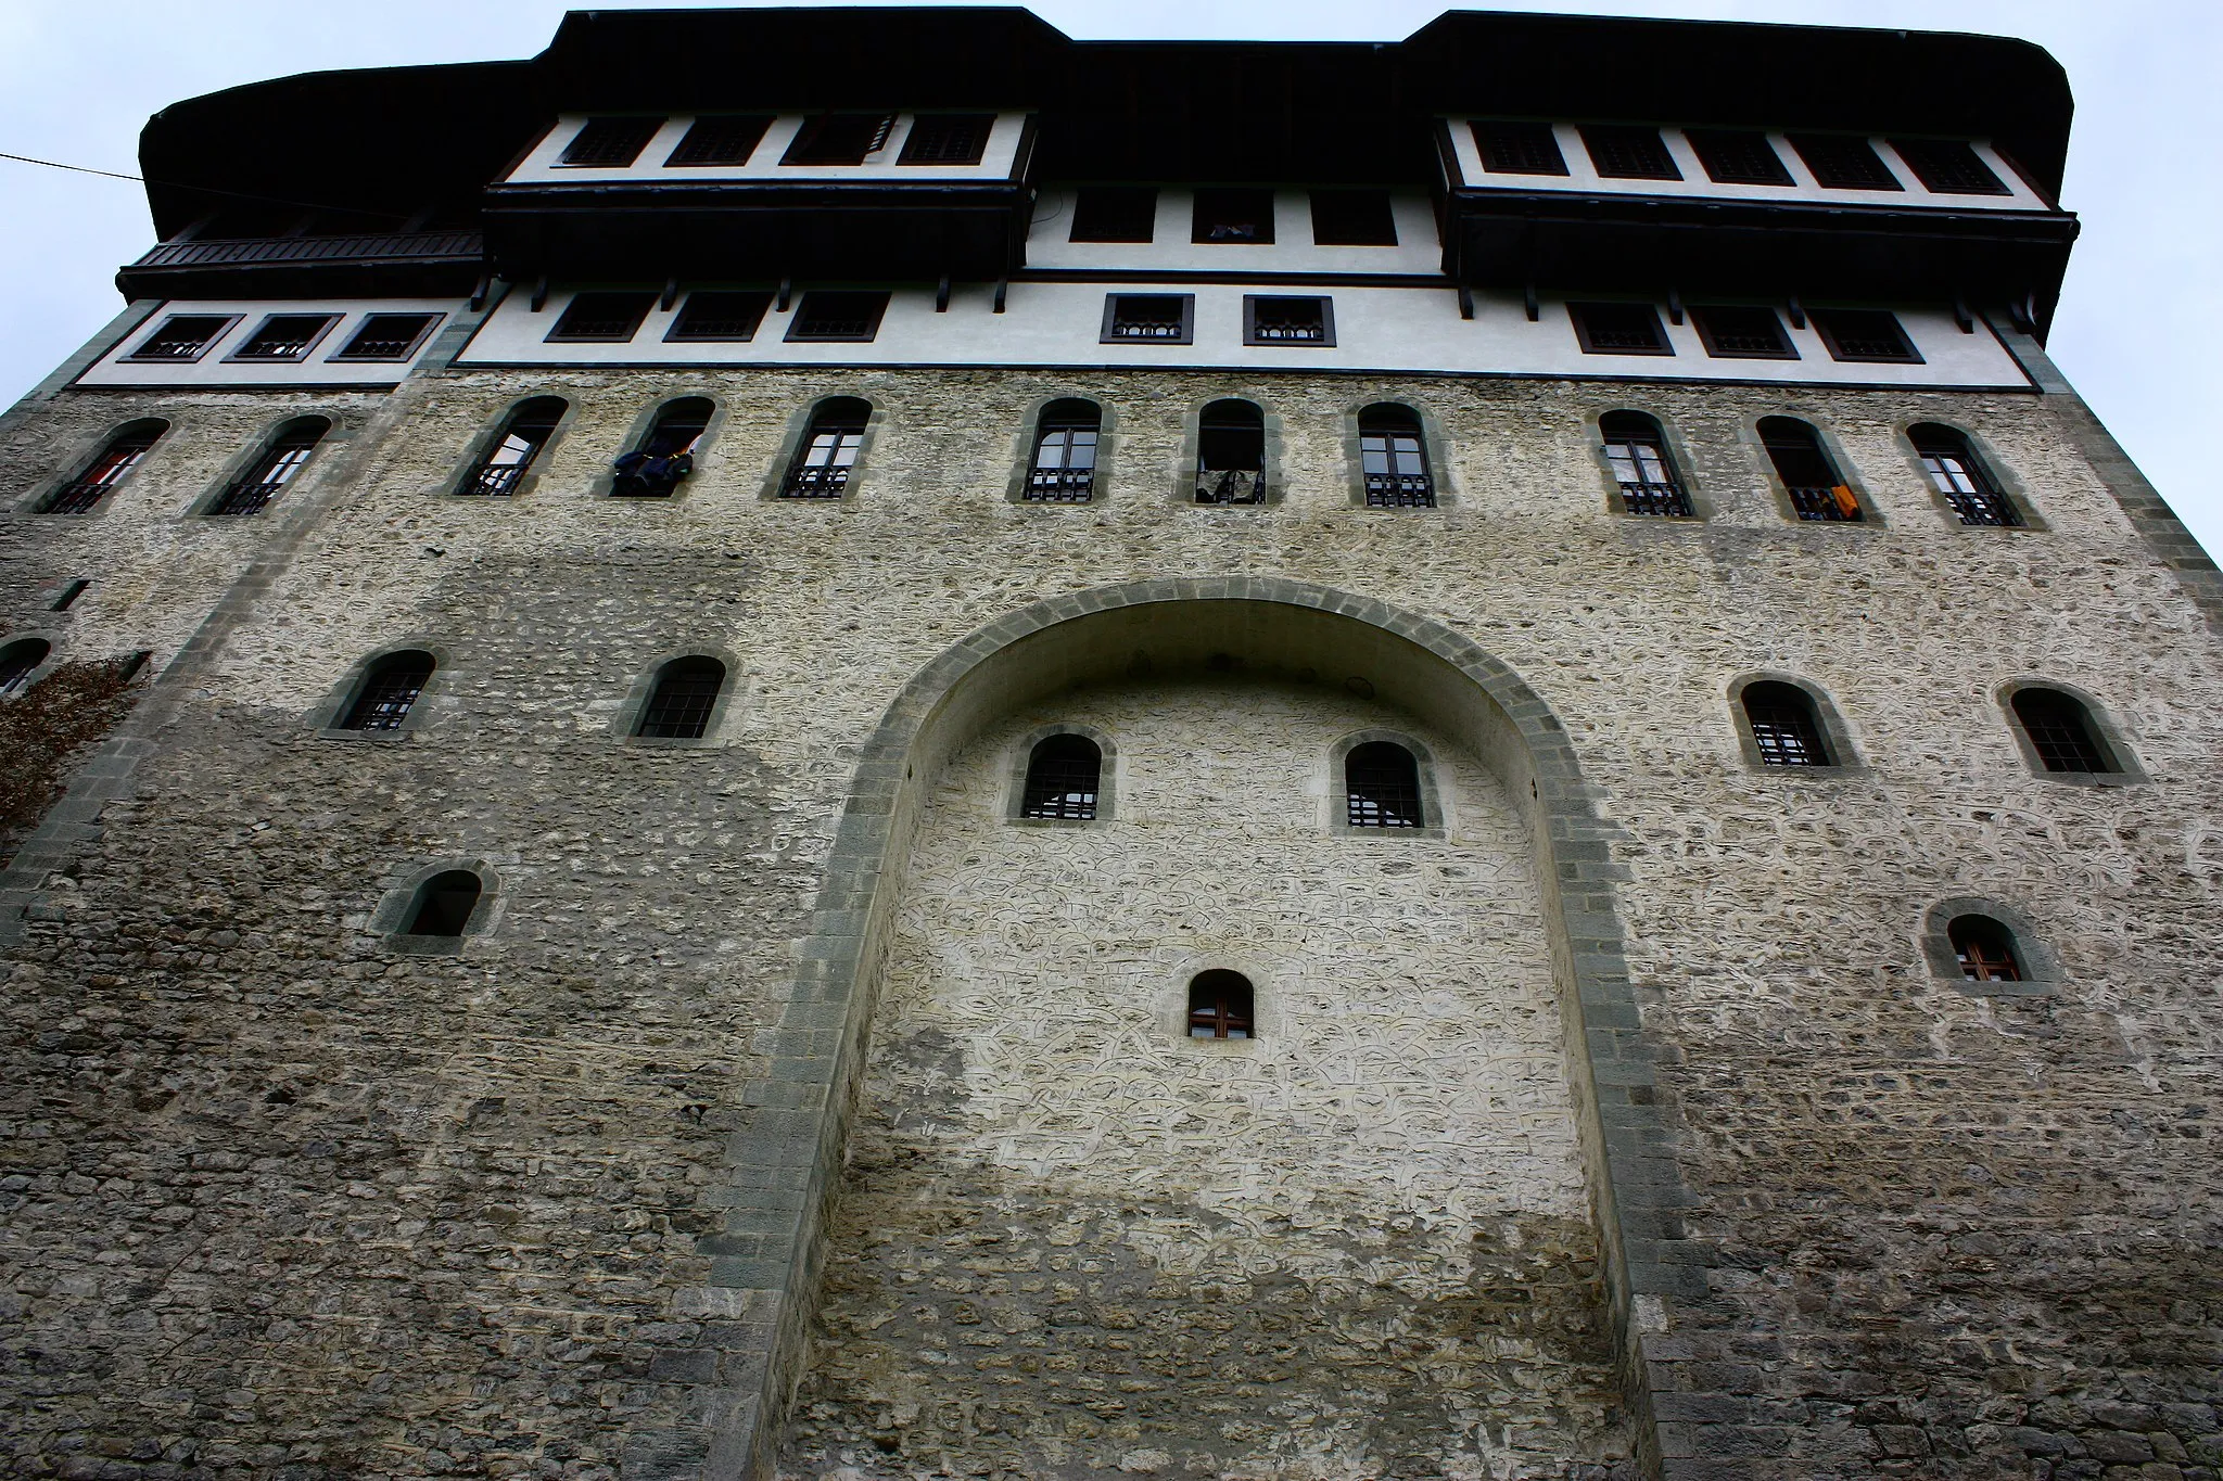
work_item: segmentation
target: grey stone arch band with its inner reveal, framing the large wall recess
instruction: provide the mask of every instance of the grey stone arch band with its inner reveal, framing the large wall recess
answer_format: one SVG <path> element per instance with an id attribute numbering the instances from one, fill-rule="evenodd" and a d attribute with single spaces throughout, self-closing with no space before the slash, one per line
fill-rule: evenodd
<path id="1" fill-rule="evenodd" d="M 1701 1252 L 1681 1239 L 1685 1199 L 1669 1126 L 1652 1095 L 1654 1052 L 1621 946 L 1618 828 L 1598 813 L 1549 706 L 1452 628 L 1369 597 L 1274 577 L 1154 580 L 1020 608 L 923 668 L 858 748 L 796 986 L 751 1081 L 734 1141 L 727 1232 L 702 1241 L 709 1288 L 691 1310 L 738 1317 L 725 1372 L 738 1386 L 714 1474 L 769 1474 L 820 1272 L 820 1223 L 871 1021 L 887 915 L 918 815 L 916 790 L 987 722 L 1071 684 L 1225 666 L 1345 682 L 1461 737 L 1529 808 L 1545 928 L 1567 1017 L 1569 1075 L 1607 1301 L 1649 1474 L 1661 1454 L 1641 1330 L 1658 1297 L 1703 1294 Z M 1647 1310 L 1652 1308 L 1652 1310 Z M 734 1350 L 745 1348 L 745 1350 Z M 1665 1374 L 1661 1374 L 1665 1377 Z"/>

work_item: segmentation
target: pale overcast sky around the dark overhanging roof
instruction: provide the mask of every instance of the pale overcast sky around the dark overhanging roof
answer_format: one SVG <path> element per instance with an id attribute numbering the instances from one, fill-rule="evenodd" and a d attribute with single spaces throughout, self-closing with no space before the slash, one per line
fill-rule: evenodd
<path id="1" fill-rule="evenodd" d="M 662 0 L 662 7 L 676 0 Z M 0 0 L 0 151 L 136 171 L 178 98 L 331 67 L 525 58 L 558 0 Z M 600 4 L 596 9 L 627 9 Z M 1398 40 L 1416 0 L 1043 0 L 1080 40 Z M 2223 4 L 2216 0 L 1649 0 L 1512 11 L 1787 20 L 2021 36 L 2076 89 L 2063 204 L 2083 215 L 2052 353 L 2147 477 L 2223 553 Z M 1827 78 L 1816 78 L 1827 87 Z M 29 391 L 122 300 L 151 242 L 140 187 L 0 160 L 0 402 Z"/>

